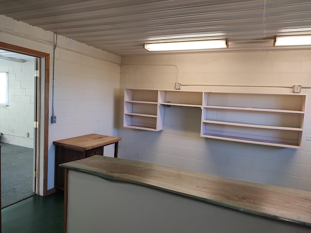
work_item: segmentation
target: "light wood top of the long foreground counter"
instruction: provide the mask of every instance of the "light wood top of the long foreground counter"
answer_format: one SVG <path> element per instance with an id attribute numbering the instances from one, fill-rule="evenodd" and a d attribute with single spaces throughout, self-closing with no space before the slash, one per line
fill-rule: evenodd
<path id="1" fill-rule="evenodd" d="M 308 191 L 100 155 L 60 166 L 311 227 L 311 192 Z"/>

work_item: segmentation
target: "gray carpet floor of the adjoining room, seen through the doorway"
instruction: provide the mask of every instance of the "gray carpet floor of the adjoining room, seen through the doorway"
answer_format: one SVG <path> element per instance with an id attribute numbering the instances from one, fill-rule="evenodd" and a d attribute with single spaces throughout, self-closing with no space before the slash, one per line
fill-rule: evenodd
<path id="1" fill-rule="evenodd" d="M 1 146 L 1 208 L 33 196 L 34 150 Z"/>

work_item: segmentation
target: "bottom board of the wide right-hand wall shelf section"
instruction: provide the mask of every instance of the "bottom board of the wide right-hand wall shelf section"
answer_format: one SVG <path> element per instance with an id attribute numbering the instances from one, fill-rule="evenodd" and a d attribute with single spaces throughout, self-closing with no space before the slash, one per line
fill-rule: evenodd
<path id="1" fill-rule="evenodd" d="M 201 136 L 207 137 L 207 138 L 214 138 L 214 139 L 221 139 L 221 140 L 235 141 L 235 142 L 252 143 L 252 144 L 260 144 L 260 145 L 267 145 L 267 146 L 300 148 L 300 145 L 298 145 L 298 143 L 289 144 L 289 143 L 284 143 L 284 142 L 279 142 L 279 141 L 262 140 L 262 139 L 258 140 L 255 138 L 245 138 L 245 137 L 239 137 L 239 136 L 224 136 L 224 135 L 220 135 L 220 134 L 210 134 L 210 133 L 204 133 Z"/>

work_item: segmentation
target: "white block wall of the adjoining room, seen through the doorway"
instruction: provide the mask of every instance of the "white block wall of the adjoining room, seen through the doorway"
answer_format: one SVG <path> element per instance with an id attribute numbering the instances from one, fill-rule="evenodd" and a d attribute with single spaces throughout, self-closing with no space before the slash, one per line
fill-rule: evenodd
<path id="1" fill-rule="evenodd" d="M 0 105 L 1 142 L 34 148 L 35 59 L 24 63 L 0 60 L 0 72 L 7 72 L 9 81 L 9 104 Z"/>

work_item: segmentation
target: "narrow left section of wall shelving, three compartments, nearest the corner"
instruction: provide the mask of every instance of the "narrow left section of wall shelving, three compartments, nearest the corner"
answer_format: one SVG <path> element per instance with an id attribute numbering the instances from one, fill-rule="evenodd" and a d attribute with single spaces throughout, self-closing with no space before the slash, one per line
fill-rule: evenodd
<path id="1" fill-rule="evenodd" d="M 163 130 L 164 106 L 158 104 L 157 90 L 124 90 L 124 118 L 126 128 Z"/>

